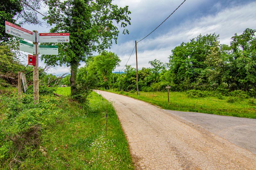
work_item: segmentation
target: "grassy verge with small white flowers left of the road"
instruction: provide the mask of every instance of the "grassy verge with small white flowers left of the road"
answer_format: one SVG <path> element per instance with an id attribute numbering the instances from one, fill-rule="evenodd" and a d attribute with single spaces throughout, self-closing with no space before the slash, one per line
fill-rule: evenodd
<path id="1" fill-rule="evenodd" d="M 11 122 L 6 116 L 9 109 L 0 112 L 0 169 L 134 169 L 128 143 L 112 104 L 92 92 L 89 104 L 83 105 L 69 100 L 65 96 L 70 95 L 69 92 L 70 88 L 58 88 L 57 94 L 63 96 L 40 96 L 40 104 L 31 108 L 35 112 L 32 113 L 30 108 L 23 112 L 22 127 L 33 124 L 30 116 L 37 118 L 34 124 L 40 126 L 40 143 L 37 145 L 26 145 L 26 139 L 21 140 L 22 147 L 15 145 L 17 141 L 10 136 L 22 136 L 20 129 L 17 134 L 12 134 L 11 127 L 5 126 Z M 28 100 L 33 103 L 33 96 L 24 96 L 26 103 L 30 102 Z M 8 107 L 7 100 L 6 96 L 1 96 L 0 105 Z M 37 117 L 38 113 L 41 117 Z"/>

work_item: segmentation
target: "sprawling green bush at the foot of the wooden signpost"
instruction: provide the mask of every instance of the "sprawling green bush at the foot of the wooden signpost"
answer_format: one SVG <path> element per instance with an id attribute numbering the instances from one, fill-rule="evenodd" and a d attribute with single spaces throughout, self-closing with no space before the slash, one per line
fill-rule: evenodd
<path id="1" fill-rule="evenodd" d="M 18 169 L 19 161 L 35 157 L 43 130 L 68 120 L 58 98 L 42 96 L 39 104 L 33 104 L 33 95 L 23 94 L 21 103 L 15 92 L 0 96 L 0 101 L 5 108 L 0 120 L 0 164 L 9 159 L 14 169 Z"/>

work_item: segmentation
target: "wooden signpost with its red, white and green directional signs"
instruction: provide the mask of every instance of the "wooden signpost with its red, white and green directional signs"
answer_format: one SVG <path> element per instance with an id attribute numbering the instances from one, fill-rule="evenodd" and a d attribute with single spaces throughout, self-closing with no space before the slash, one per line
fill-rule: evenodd
<path id="1" fill-rule="evenodd" d="M 33 55 L 28 55 L 28 64 L 33 65 L 33 94 L 34 103 L 39 103 L 39 80 L 38 80 L 38 55 L 58 55 L 58 46 L 38 46 L 38 43 L 69 43 L 69 33 L 38 33 L 29 31 L 20 26 L 5 21 L 5 33 L 32 41 L 33 44 L 20 40 L 20 50 Z M 41 50 L 40 50 L 41 48 Z M 19 73 L 19 81 L 21 74 Z M 18 83 L 18 94 L 22 94 L 21 82 Z"/>

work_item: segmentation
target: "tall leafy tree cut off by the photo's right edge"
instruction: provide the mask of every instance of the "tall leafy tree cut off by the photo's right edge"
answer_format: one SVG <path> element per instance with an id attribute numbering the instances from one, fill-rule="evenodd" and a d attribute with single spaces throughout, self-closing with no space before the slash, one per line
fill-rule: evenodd
<path id="1" fill-rule="evenodd" d="M 241 35 L 231 39 L 229 52 L 230 83 L 240 90 L 255 89 L 256 86 L 256 30 L 245 29 Z"/>

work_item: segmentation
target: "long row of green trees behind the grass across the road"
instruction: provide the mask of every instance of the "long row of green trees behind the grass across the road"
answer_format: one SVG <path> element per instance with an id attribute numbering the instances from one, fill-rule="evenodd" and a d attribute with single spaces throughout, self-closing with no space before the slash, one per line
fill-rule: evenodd
<path id="1" fill-rule="evenodd" d="M 247 28 L 241 35 L 235 34 L 230 45 L 220 44 L 219 35 L 215 33 L 182 42 L 172 49 L 168 63 L 155 59 L 149 61 L 151 67 L 138 70 L 139 91 L 165 91 L 170 85 L 172 91 L 194 89 L 225 93 L 241 90 L 255 96 L 255 32 Z M 86 66 L 78 70 L 77 81 L 109 89 L 113 88 L 114 76 L 114 88 L 119 90 L 119 74 L 111 74 L 119 62 L 119 57 L 111 52 L 91 57 Z M 137 89 L 136 69 L 131 65 L 126 65 L 124 74 L 120 75 L 120 89 Z"/>

